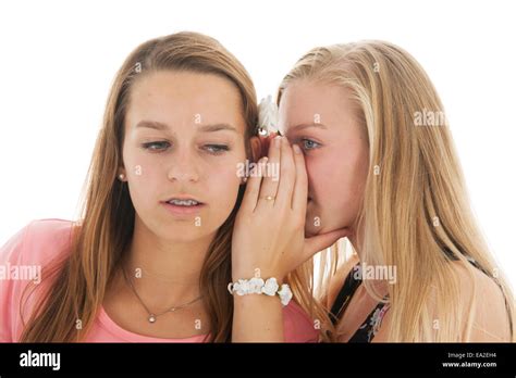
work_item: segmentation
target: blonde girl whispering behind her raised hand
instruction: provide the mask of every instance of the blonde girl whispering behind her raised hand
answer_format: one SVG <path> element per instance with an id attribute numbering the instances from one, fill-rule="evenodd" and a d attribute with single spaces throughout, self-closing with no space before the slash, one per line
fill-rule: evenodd
<path id="1" fill-rule="evenodd" d="M 334 341 L 514 341 L 511 289 L 416 60 L 382 41 L 316 48 L 285 76 L 278 102 L 284 137 L 269 160 L 282 176 L 248 182 L 233 278 L 259 267 L 288 281 L 312 264 L 314 236 L 342 232 L 355 253 L 319 275 L 331 310 L 319 320 Z M 281 341 L 281 318 L 275 299 L 235 297 L 234 338 Z"/>

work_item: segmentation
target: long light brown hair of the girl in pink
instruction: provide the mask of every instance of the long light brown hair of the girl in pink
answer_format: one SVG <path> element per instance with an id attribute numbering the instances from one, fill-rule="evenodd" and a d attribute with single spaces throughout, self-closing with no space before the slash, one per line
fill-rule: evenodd
<path id="1" fill-rule="evenodd" d="M 246 152 L 256 134 L 258 110 L 253 81 L 244 66 L 216 39 L 197 33 L 177 33 L 149 40 L 137 47 L 118 72 L 106 106 L 86 182 L 82 216 L 73 228 L 71 251 L 65 259 L 46 268 L 54 282 L 42 293 L 21 341 L 82 341 L 102 304 L 108 282 L 119 266 L 134 230 L 135 210 L 127 186 L 115 179 L 122 166 L 124 117 L 135 80 L 152 71 L 188 71 L 219 75 L 238 89 L 246 122 Z M 233 299 L 231 281 L 231 238 L 236 205 L 209 247 L 200 273 L 200 290 L 206 298 L 210 341 L 231 341 Z M 34 290 L 33 290 L 34 292 Z M 21 308 L 23 314 L 23 311 Z M 77 329 L 81 320 L 81 329 Z"/>

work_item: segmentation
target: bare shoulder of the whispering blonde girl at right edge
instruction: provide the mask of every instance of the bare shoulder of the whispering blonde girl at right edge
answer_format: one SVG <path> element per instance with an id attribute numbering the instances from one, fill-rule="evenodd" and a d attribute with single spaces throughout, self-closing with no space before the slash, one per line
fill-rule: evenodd
<path id="1" fill-rule="evenodd" d="M 460 306 L 472 317 L 469 341 L 511 341 L 511 318 L 505 295 L 496 281 L 478 268 L 453 263 L 459 279 Z"/>

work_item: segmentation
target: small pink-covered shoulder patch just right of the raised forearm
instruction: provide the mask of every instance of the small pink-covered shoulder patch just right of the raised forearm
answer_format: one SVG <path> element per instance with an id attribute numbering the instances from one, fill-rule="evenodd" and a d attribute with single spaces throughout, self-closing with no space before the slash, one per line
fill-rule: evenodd
<path id="1" fill-rule="evenodd" d="M 294 300 L 283 307 L 283 333 L 285 342 L 317 342 L 319 339 L 314 320 Z"/>

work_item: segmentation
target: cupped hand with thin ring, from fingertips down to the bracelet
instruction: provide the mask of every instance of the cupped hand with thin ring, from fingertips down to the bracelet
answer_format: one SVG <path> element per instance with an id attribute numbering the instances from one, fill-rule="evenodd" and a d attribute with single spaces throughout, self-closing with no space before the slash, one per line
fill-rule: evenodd
<path id="1" fill-rule="evenodd" d="M 261 168 L 260 168 L 261 167 Z M 274 137 L 247 180 L 232 240 L 233 279 L 284 277 L 348 236 L 349 229 L 305 238 L 308 178 L 303 151 Z"/>

